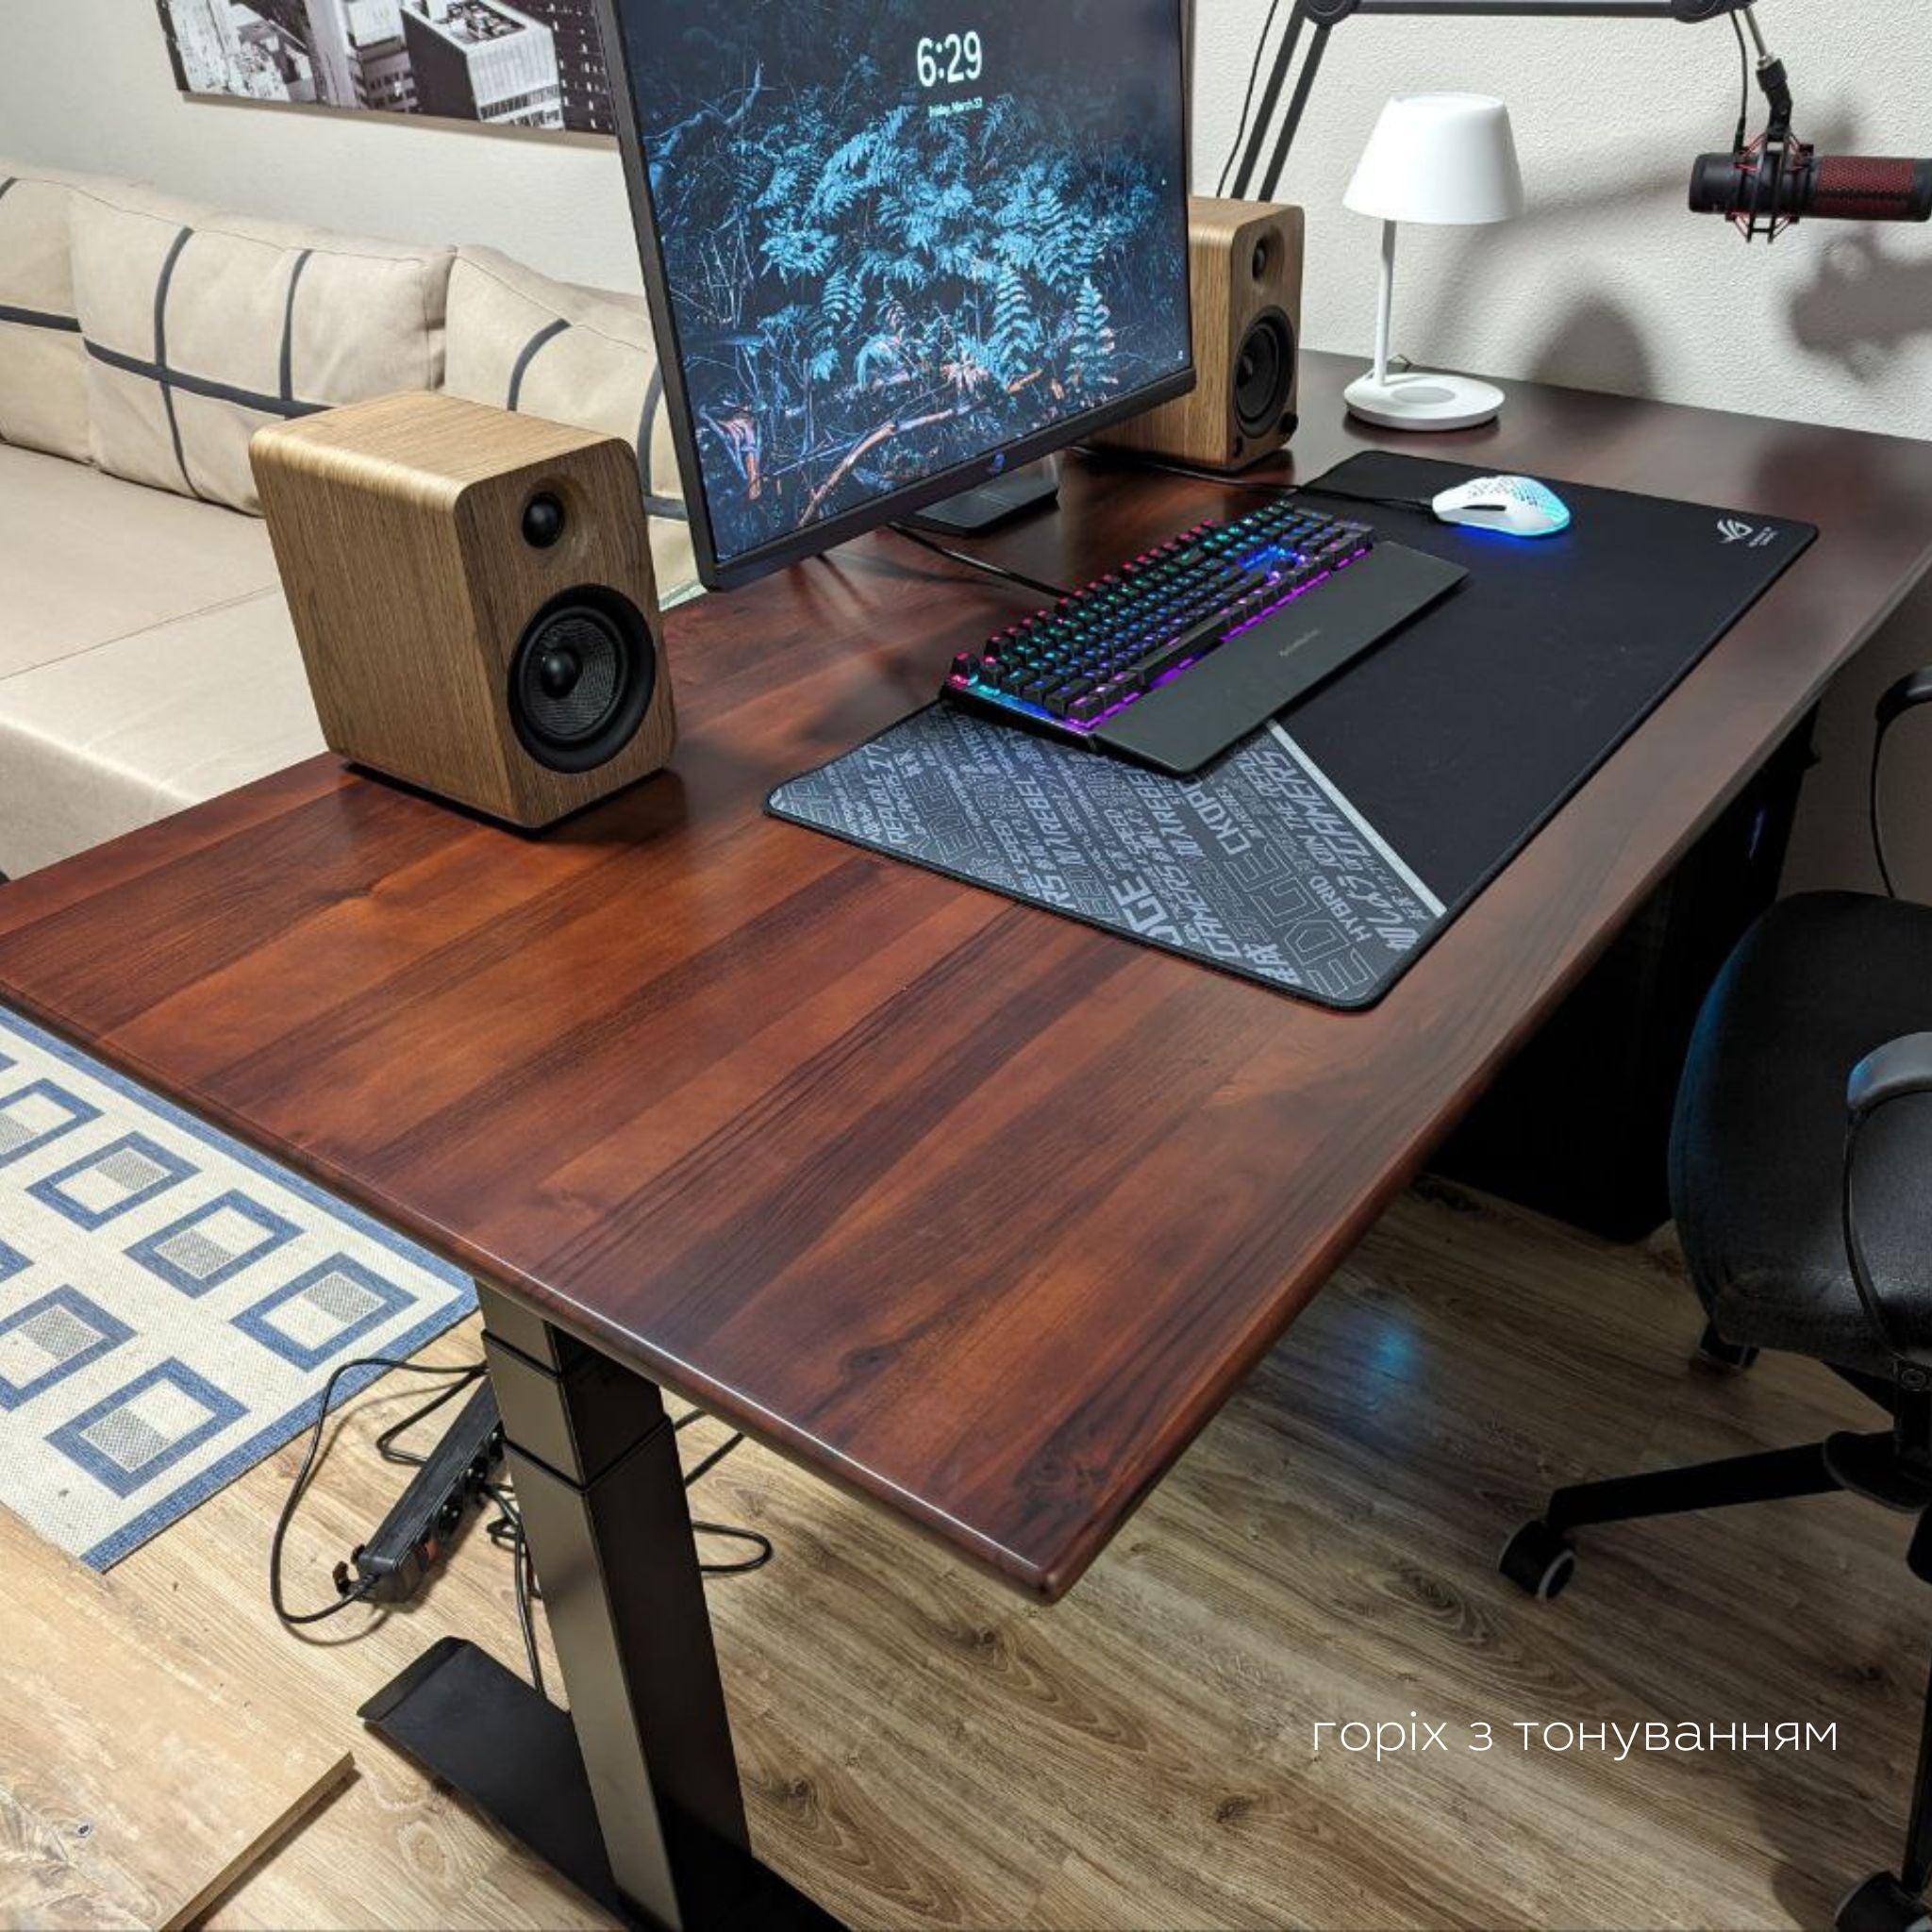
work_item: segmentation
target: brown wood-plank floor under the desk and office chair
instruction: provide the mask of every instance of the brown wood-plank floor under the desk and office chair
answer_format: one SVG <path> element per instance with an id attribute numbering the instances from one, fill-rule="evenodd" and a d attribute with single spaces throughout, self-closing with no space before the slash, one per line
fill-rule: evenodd
<path id="1" fill-rule="evenodd" d="M 1909 1791 L 1932 1604 L 1905 1519 L 1826 1497 L 1600 1530 L 1557 1605 L 1492 1571 L 1553 1482 L 1870 1426 L 1804 1364 L 1690 1370 L 1698 1327 L 1667 1244 L 1410 1194 L 1057 1609 L 740 1451 L 696 1493 L 779 1542 L 711 1584 L 759 1851 L 854 1926 L 1824 1922 L 1893 1861 Z M 392 1492 L 367 1437 L 412 1399 L 354 1405 L 299 1600 Z M 357 1779 L 209 1922 L 597 1924 L 352 1718 L 444 1631 L 516 1662 L 508 1559 L 473 1536 L 410 1613 L 298 1642 L 263 1600 L 290 1463 L 116 1571 L 232 1689 L 354 1741 Z M 1312 1748 L 1410 1712 L 1499 1743 Z M 1835 1723 L 1837 1748 L 1619 1764 L 1511 1729 L 1605 1719 Z"/>

